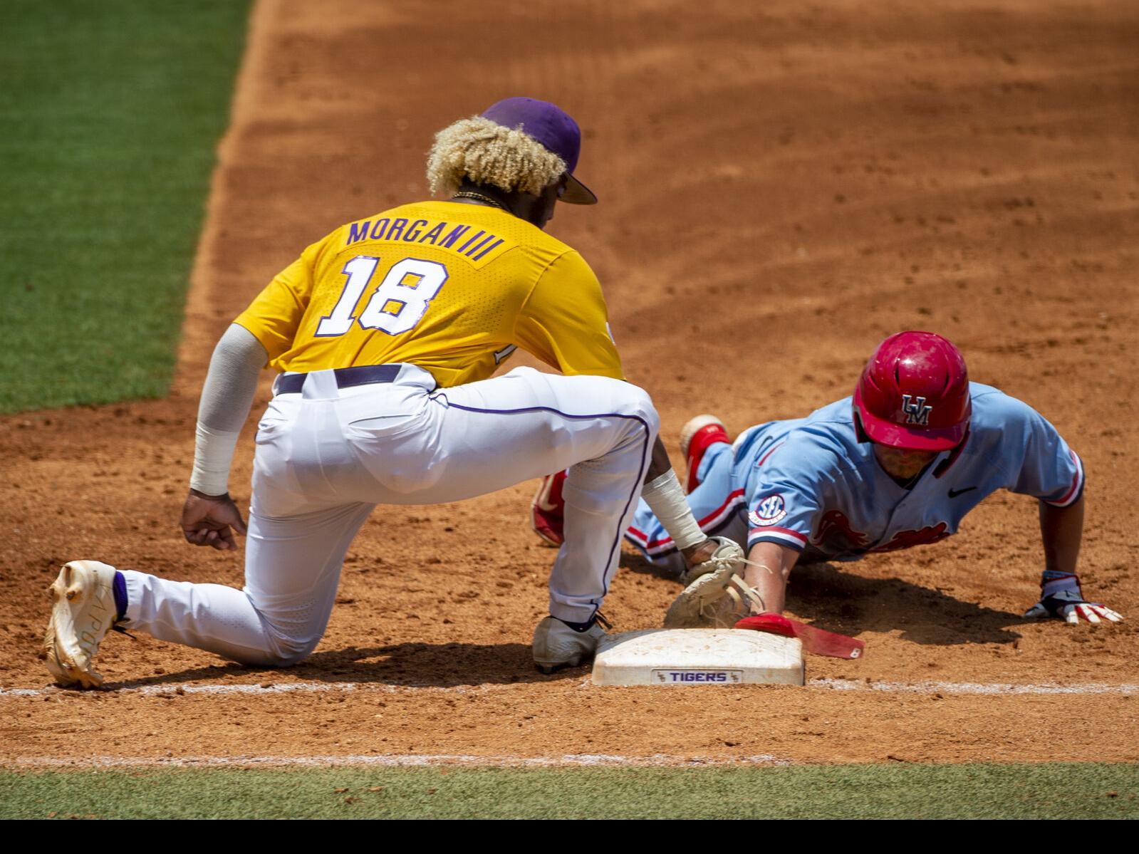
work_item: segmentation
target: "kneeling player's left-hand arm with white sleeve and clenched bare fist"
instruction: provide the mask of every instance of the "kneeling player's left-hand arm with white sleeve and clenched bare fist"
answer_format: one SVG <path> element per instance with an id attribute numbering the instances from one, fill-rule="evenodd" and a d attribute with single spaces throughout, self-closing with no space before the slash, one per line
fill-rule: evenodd
<path id="1" fill-rule="evenodd" d="M 229 469 L 268 358 L 261 342 L 236 323 L 214 347 L 198 404 L 190 491 L 182 506 L 182 534 L 194 545 L 237 549 L 235 532 L 245 534 L 245 522 L 229 496 Z"/>

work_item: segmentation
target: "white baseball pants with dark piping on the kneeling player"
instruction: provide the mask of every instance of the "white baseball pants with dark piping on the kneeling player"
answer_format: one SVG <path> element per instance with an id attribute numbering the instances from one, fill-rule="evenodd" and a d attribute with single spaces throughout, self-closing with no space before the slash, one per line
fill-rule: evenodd
<path id="1" fill-rule="evenodd" d="M 274 396 L 257 428 L 244 590 L 126 570 L 126 625 L 243 663 L 295 664 L 323 635 L 344 555 L 376 504 L 458 501 L 564 468 L 550 614 L 589 621 L 659 426 L 648 395 L 531 368 L 434 386 L 404 364 L 393 383 L 338 388 L 317 371 L 303 392 Z"/>

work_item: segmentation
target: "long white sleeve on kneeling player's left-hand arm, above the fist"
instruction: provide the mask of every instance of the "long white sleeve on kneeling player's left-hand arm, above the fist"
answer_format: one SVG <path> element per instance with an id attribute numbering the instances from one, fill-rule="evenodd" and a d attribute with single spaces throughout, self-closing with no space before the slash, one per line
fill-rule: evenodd
<path id="1" fill-rule="evenodd" d="M 257 375 L 268 359 L 261 342 L 237 323 L 230 325 L 214 347 L 198 404 L 190 488 L 206 495 L 229 491 L 237 436 L 249 416 Z"/>

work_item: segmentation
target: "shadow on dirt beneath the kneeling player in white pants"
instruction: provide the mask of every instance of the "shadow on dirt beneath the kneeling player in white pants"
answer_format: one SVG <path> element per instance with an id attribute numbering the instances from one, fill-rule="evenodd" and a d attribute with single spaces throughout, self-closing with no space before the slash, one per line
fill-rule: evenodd
<path id="1" fill-rule="evenodd" d="M 219 664 L 212 667 L 166 673 L 148 679 L 107 683 L 108 690 L 171 685 L 187 682 L 246 684 L 289 682 L 359 682 L 413 688 L 557 682 L 589 676 L 589 666 L 568 667 L 544 675 L 534 670 L 530 646 L 524 643 L 392 643 L 383 647 L 347 647 L 313 652 L 293 667 L 246 667 Z"/>

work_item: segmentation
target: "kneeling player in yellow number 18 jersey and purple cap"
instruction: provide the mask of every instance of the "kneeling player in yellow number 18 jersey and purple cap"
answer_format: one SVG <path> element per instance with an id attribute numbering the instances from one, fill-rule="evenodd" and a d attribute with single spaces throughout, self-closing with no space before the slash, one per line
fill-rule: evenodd
<path id="1" fill-rule="evenodd" d="M 603 637 L 598 608 L 642 485 L 695 572 L 739 567 L 738 545 L 700 533 L 652 401 L 624 381 L 597 278 L 542 231 L 558 199 L 597 200 L 573 176 L 580 139 L 552 104 L 500 101 L 437 134 L 428 180 L 448 200 L 347 223 L 265 287 L 211 360 L 181 520 L 198 545 L 236 549 L 247 533 L 244 590 L 72 561 L 44 641 L 58 682 L 99 683 L 91 660 L 115 624 L 238 662 L 300 662 L 376 504 L 457 501 L 564 468 L 541 670 L 579 664 Z M 562 376 L 489 378 L 518 346 Z M 228 477 L 267 362 L 280 373 L 246 531 Z"/>

